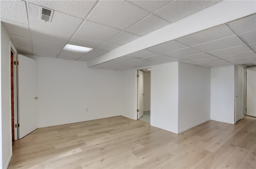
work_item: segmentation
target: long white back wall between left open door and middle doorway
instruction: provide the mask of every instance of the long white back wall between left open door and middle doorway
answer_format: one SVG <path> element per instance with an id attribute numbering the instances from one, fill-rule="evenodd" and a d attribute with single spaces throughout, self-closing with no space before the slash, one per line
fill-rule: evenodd
<path id="1" fill-rule="evenodd" d="M 81 61 L 33 58 L 39 128 L 121 115 L 121 71 L 90 69 Z"/>

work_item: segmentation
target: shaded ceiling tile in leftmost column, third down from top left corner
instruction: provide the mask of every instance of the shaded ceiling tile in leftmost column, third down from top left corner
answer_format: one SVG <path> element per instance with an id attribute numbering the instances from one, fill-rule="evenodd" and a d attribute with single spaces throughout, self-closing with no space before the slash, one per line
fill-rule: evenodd
<path id="1" fill-rule="evenodd" d="M 11 35 L 15 47 L 20 51 L 32 51 L 31 40 L 29 37 Z"/>

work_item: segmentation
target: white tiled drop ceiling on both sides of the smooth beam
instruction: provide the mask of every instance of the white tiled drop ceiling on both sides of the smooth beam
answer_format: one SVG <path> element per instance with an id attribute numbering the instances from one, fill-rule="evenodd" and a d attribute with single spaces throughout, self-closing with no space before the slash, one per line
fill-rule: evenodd
<path id="1" fill-rule="evenodd" d="M 14 0 L 0 1 L 1 21 L 18 52 L 90 61 L 151 32 L 221 3 L 217 0 Z M 39 19 L 40 6 L 54 10 Z M 92 66 L 133 69 L 182 61 L 203 67 L 256 63 L 256 14 L 179 37 Z M 66 44 L 93 48 L 81 54 Z"/>

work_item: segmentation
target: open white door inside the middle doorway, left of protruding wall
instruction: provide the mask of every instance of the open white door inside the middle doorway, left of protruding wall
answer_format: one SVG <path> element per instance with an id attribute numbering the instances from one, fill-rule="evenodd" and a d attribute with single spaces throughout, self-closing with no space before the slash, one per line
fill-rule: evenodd
<path id="1" fill-rule="evenodd" d="M 143 72 L 142 71 L 138 71 L 138 119 L 140 119 L 143 116 Z"/>

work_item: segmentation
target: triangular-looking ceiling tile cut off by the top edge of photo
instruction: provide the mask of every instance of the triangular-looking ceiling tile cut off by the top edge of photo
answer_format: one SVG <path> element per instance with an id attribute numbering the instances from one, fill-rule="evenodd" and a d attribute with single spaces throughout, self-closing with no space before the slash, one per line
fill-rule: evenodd
<path id="1" fill-rule="evenodd" d="M 149 12 L 155 12 L 172 1 L 173 0 L 128 0 L 128 2 L 131 2 L 132 4 Z"/>

